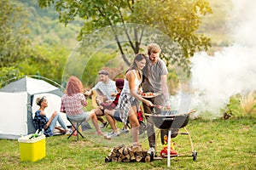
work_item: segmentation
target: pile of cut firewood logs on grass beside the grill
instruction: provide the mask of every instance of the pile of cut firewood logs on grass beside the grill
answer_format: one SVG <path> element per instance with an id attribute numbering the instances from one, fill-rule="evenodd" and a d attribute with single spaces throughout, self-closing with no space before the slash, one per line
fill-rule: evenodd
<path id="1" fill-rule="evenodd" d="M 152 157 L 152 158 L 151 158 Z M 141 147 L 119 145 L 113 147 L 111 152 L 105 158 L 105 162 L 129 162 L 129 161 L 152 161 L 153 156 L 148 154 L 147 150 Z"/>

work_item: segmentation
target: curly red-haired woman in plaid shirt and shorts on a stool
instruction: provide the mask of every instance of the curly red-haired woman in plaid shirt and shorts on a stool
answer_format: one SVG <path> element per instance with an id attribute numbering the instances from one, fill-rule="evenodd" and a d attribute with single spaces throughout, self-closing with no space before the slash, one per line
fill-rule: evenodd
<path id="1" fill-rule="evenodd" d="M 98 125 L 96 114 L 93 111 L 84 112 L 83 107 L 87 105 L 84 97 L 84 88 L 78 77 L 70 77 L 67 82 L 65 94 L 61 97 L 61 112 L 67 113 L 67 117 L 71 120 L 92 120 L 96 127 L 96 134 L 102 135 L 102 131 Z M 74 130 L 74 127 L 72 127 Z M 73 133 L 77 136 L 78 133 Z"/>

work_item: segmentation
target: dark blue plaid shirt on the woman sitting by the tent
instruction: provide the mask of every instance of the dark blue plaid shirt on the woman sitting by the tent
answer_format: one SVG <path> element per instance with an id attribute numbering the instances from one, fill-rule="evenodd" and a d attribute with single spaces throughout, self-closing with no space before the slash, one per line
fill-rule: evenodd
<path id="1" fill-rule="evenodd" d="M 49 121 L 49 119 L 44 115 L 40 115 L 41 111 L 36 111 L 33 122 L 37 130 L 42 131 L 42 129 L 45 127 L 46 123 Z M 53 133 L 51 132 L 50 128 L 44 129 L 44 135 L 46 137 L 52 136 Z"/>

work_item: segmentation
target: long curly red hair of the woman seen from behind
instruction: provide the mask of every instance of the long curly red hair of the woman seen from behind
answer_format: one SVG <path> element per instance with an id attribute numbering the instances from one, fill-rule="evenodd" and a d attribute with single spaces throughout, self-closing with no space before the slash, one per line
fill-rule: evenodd
<path id="1" fill-rule="evenodd" d="M 65 93 L 71 96 L 73 94 L 79 94 L 83 92 L 84 92 L 83 83 L 79 80 L 79 78 L 74 76 L 70 77 L 67 82 Z"/>

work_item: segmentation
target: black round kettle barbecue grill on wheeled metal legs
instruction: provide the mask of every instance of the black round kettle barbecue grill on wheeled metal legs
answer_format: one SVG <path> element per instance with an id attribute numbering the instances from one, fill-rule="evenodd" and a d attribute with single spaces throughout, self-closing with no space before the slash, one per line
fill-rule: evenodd
<path id="1" fill-rule="evenodd" d="M 154 126 L 168 130 L 168 145 L 167 145 L 167 167 L 171 165 L 171 157 L 174 156 L 186 156 L 186 155 L 171 155 L 171 138 L 175 138 L 177 134 L 186 134 L 189 135 L 189 142 L 191 144 L 191 153 L 193 156 L 193 161 L 196 160 L 197 152 L 194 150 L 192 139 L 189 131 L 186 129 L 187 124 L 189 123 L 189 114 L 195 111 L 189 111 L 188 113 L 178 113 L 178 111 L 160 111 L 154 112 L 154 114 L 145 114 L 146 116 L 151 116 L 154 122 Z M 178 133 L 178 130 L 183 128 L 185 133 Z"/>

